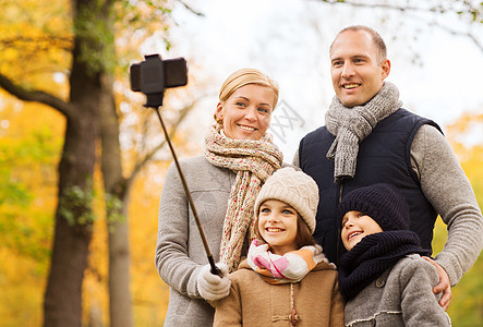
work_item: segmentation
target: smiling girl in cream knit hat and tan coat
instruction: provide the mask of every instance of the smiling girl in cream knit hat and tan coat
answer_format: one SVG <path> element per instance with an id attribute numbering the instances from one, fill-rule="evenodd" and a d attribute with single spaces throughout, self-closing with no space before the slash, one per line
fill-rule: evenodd
<path id="1" fill-rule="evenodd" d="M 255 202 L 253 241 L 230 274 L 214 326 L 343 326 L 337 271 L 312 233 L 318 187 L 293 168 L 276 171 Z"/>

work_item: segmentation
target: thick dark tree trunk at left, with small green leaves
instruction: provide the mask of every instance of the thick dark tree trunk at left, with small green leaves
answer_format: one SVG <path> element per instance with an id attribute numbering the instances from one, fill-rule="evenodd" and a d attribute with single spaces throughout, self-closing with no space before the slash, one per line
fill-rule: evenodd
<path id="1" fill-rule="evenodd" d="M 95 0 L 94 0 L 95 1 Z M 74 5 L 74 22 L 92 8 Z M 70 76 L 70 102 L 65 140 L 59 164 L 59 203 L 56 210 L 52 259 L 44 303 L 45 327 L 81 327 L 82 281 L 92 239 L 93 173 L 99 135 L 99 73 L 86 60 L 95 51 L 93 39 L 76 31 Z"/>

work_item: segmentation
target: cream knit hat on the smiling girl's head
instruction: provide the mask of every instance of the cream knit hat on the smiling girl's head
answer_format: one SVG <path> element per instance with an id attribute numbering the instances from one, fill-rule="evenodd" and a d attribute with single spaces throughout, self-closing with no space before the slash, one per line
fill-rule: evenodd
<path id="1" fill-rule="evenodd" d="M 258 216 L 259 206 L 267 199 L 278 199 L 292 206 L 311 232 L 315 231 L 318 187 L 317 183 L 303 171 L 286 167 L 269 177 L 256 197 L 255 216 Z"/>

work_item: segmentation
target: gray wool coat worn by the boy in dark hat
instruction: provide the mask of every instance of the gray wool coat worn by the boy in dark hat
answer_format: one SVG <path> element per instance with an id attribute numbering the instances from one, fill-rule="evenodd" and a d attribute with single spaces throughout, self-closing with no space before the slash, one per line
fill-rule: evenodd
<path id="1" fill-rule="evenodd" d="M 451 326 L 433 293 L 438 280 L 432 264 L 410 254 L 346 304 L 346 326 Z"/>

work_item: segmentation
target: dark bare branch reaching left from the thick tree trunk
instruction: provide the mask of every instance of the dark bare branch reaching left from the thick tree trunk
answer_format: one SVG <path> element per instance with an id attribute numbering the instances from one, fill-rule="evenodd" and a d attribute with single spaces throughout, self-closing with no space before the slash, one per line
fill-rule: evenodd
<path id="1" fill-rule="evenodd" d="M 65 117 L 69 117 L 73 110 L 72 105 L 70 105 L 69 102 L 65 102 L 64 100 L 43 90 L 28 90 L 24 87 L 21 87 L 1 73 L 0 87 L 23 101 L 34 101 L 50 106 Z"/>

